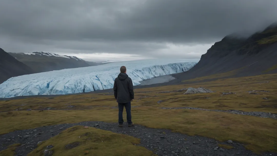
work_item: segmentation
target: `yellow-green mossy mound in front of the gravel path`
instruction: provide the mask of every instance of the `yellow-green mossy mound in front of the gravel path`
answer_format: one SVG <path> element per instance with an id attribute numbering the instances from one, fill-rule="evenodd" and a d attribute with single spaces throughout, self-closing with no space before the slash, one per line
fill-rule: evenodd
<path id="1" fill-rule="evenodd" d="M 151 156 L 152 151 L 140 144 L 140 139 L 96 128 L 74 126 L 59 135 L 41 142 L 28 156 L 43 156 L 46 147 L 52 145 L 53 156 Z"/>

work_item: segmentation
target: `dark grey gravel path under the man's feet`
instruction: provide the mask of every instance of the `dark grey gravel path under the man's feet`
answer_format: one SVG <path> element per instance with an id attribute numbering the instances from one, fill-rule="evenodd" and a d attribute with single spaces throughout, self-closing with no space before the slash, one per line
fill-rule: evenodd
<path id="1" fill-rule="evenodd" d="M 115 133 L 127 134 L 141 139 L 140 146 L 152 150 L 155 154 L 162 156 L 188 155 L 188 156 L 237 156 L 249 155 L 257 156 L 251 151 L 245 150 L 242 144 L 232 141 L 217 142 L 201 136 L 187 136 L 185 134 L 173 133 L 166 129 L 153 129 L 141 125 L 122 128 L 117 127 L 117 123 L 104 122 L 81 122 L 75 124 L 61 124 L 53 126 L 43 126 L 36 129 L 15 131 L 0 136 L 0 151 L 7 146 L 20 143 L 22 146 L 16 149 L 15 156 L 26 156 L 37 147 L 37 143 L 47 140 L 66 128 L 82 125 L 91 126 Z M 233 149 L 219 148 L 219 144 L 231 145 Z M 264 153 L 264 156 L 277 156 L 275 153 Z"/>

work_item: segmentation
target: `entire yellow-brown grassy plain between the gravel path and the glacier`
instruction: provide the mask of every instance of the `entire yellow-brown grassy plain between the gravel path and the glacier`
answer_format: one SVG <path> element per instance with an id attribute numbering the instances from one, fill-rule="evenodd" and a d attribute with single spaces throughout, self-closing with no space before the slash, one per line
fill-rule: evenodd
<path id="1" fill-rule="evenodd" d="M 191 95 L 184 95 L 185 91 L 160 93 L 200 86 L 216 92 Z M 251 90 L 270 92 L 257 92 L 260 95 L 255 95 L 247 92 Z M 221 96 L 220 92 L 236 92 L 237 94 Z M 205 97 L 209 97 L 209 99 Z M 263 97 L 269 100 L 265 100 Z M 164 102 L 158 104 L 157 101 L 159 100 L 164 100 Z M 219 79 L 188 85 L 143 88 L 135 89 L 135 100 L 132 102 L 132 106 L 139 107 L 132 108 L 132 120 L 135 124 L 171 129 L 189 135 L 206 136 L 219 141 L 231 139 L 247 144 L 247 149 L 254 152 L 277 152 L 277 120 L 275 119 L 201 110 L 159 109 L 159 107 L 200 107 L 277 113 L 276 102 L 277 74 Z M 75 107 L 67 108 L 68 105 L 75 105 Z M 20 107 L 23 110 L 29 108 L 43 109 L 45 107 L 57 109 L 42 112 L 38 110 L 1 112 L 0 134 L 20 129 L 80 121 L 117 122 L 118 110 L 112 109 L 114 106 L 117 106 L 117 103 L 112 94 L 80 94 L 57 96 L 53 99 L 40 97 L 0 101 L 1 111 L 12 111 Z"/>

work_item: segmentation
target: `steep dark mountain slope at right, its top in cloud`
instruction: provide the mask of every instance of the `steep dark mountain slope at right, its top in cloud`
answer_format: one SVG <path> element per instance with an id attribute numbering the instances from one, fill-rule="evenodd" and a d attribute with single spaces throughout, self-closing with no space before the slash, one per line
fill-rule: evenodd
<path id="1" fill-rule="evenodd" d="M 226 36 L 216 42 L 191 70 L 173 75 L 190 79 L 240 69 L 235 76 L 277 73 L 277 26 L 249 38 Z"/>

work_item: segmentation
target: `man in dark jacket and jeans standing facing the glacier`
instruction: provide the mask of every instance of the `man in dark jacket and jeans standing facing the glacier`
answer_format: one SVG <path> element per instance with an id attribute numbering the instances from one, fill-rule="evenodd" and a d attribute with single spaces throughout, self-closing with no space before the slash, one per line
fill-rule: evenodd
<path id="1" fill-rule="evenodd" d="M 132 79 L 126 74 L 125 66 L 120 67 L 120 73 L 114 80 L 114 97 L 118 102 L 118 126 L 123 126 L 122 113 L 124 107 L 127 113 L 128 126 L 133 126 L 134 123 L 131 120 L 131 102 L 134 100 L 134 88 Z"/>

